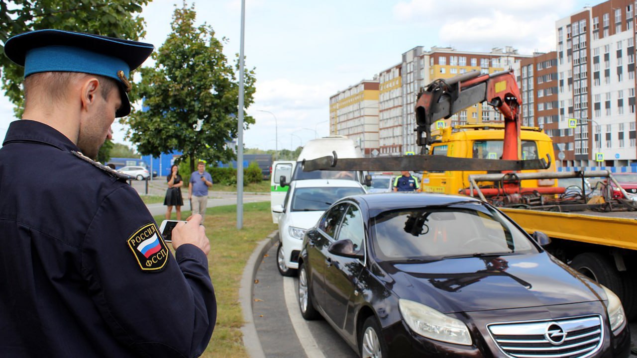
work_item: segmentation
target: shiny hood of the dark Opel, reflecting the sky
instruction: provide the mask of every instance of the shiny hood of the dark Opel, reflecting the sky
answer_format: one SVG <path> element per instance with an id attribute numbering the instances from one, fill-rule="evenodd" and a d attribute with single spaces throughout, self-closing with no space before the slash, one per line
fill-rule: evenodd
<path id="1" fill-rule="evenodd" d="M 443 313 L 599 301 L 601 288 L 545 253 L 383 262 L 398 297 Z M 392 273 L 390 273 L 392 272 Z"/>

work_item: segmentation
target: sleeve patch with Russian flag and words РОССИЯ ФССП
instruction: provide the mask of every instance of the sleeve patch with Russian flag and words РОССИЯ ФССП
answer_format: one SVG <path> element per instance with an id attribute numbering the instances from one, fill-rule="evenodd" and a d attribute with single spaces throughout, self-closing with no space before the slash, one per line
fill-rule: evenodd
<path id="1" fill-rule="evenodd" d="M 140 227 L 126 244 L 142 271 L 161 271 L 168 262 L 168 247 L 154 222 Z"/>

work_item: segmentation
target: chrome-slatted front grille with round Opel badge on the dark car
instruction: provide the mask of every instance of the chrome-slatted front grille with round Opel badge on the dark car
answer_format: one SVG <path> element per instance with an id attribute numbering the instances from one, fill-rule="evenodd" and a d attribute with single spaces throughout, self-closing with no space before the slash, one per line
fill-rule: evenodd
<path id="1" fill-rule="evenodd" d="M 533 322 L 489 324 L 497 347 L 507 357 L 584 358 L 595 354 L 604 341 L 598 315 Z"/>

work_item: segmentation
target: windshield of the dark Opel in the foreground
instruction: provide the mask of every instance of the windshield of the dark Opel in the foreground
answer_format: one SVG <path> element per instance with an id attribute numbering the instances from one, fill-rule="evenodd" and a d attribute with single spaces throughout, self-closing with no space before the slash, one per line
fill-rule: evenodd
<path id="1" fill-rule="evenodd" d="M 381 261 L 538 252 L 510 220 L 480 203 L 385 211 L 373 221 L 372 247 Z"/>

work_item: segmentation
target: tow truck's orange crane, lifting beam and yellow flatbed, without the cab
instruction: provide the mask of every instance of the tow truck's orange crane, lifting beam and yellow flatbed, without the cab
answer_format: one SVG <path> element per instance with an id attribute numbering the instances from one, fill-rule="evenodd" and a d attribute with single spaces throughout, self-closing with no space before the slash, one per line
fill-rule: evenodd
<path id="1" fill-rule="evenodd" d="M 493 106 L 504 118 L 499 129 L 503 141 L 501 153 L 486 158 L 436 155 L 432 125 L 482 102 Z M 536 159 L 524 157 L 521 131 L 526 129 L 521 126 L 521 104 L 512 70 L 486 75 L 471 71 L 438 79 L 418 94 L 415 132 L 421 147 L 419 155 L 339 159 L 333 152 L 303 161 L 303 170 L 482 172 L 468 174 L 464 185 L 454 190 L 498 206 L 529 234 L 547 234 L 550 243 L 544 248 L 548 252 L 613 290 L 622 300 L 627 317 L 637 318 L 637 196 L 624 192 L 625 198 L 613 198 L 610 182 L 614 178 L 608 171 L 557 173 L 550 154 L 544 153 L 543 158 Z M 434 151 L 430 154 L 431 148 Z M 599 188 L 595 196 L 585 194 L 584 190 L 581 195 L 573 195 L 573 190 L 539 185 L 557 178 L 575 177 L 583 181 L 600 176 L 608 184 Z"/>

